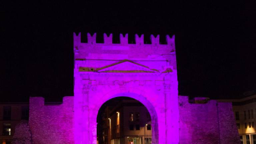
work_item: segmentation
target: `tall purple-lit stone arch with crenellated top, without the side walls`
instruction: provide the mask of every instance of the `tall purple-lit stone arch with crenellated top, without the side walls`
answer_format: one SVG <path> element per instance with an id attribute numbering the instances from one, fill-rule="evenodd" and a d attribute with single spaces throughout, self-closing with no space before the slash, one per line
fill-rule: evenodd
<path id="1" fill-rule="evenodd" d="M 96 34 L 87 38 L 88 43 L 81 43 L 80 33 L 74 34 L 75 144 L 96 144 L 98 110 L 118 96 L 137 99 L 148 108 L 154 144 L 178 144 L 174 36 L 166 36 L 167 44 L 159 44 L 159 35 L 151 35 L 152 44 L 144 44 L 143 35 L 137 34 L 136 44 L 128 44 L 127 34 L 120 34 L 120 44 L 112 43 L 112 34 L 104 34 L 104 43 L 96 43 Z"/>

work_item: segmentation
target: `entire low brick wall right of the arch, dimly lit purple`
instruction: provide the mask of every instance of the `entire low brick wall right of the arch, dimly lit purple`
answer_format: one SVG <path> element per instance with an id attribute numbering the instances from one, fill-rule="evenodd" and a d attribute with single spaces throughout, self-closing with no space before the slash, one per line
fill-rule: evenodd
<path id="1" fill-rule="evenodd" d="M 180 144 L 239 144 L 231 103 L 189 103 L 179 96 Z"/>

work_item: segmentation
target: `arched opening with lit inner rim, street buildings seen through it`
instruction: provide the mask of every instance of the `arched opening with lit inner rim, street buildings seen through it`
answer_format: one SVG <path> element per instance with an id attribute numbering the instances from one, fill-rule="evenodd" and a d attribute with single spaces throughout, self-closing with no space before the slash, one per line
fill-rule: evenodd
<path id="1" fill-rule="evenodd" d="M 97 144 L 157 144 L 157 115 L 152 104 L 136 94 L 118 94 L 97 114 Z"/>

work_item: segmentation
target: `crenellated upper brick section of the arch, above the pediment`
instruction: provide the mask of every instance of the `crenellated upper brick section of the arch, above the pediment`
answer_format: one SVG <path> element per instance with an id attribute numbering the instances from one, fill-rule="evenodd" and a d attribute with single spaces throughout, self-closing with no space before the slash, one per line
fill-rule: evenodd
<path id="1" fill-rule="evenodd" d="M 120 34 L 120 43 L 113 43 L 113 34 L 103 34 L 103 43 L 97 43 L 97 34 L 87 33 L 87 43 L 81 42 L 81 33 L 74 33 L 75 59 L 161 59 L 174 62 L 175 36 L 166 35 L 167 44 L 160 44 L 160 35 L 150 35 L 151 44 L 144 43 L 144 34 L 135 34 L 135 43 L 128 43 L 128 34 Z M 175 66 L 176 67 L 176 66 Z"/>

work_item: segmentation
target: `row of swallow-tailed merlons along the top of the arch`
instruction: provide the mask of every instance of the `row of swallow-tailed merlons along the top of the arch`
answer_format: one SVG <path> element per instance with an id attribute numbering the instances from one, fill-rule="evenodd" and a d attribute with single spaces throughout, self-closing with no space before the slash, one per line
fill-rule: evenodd
<path id="1" fill-rule="evenodd" d="M 112 34 L 107 35 L 106 33 L 104 33 L 103 36 L 104 36 L 104 44 L 113 44 Z M 150 35 L 151 44 L 155 46 L 160 45 L 159 37 L 160 37 L 159 35 L 157 35 L 156 37 L 154 37 L 154 35 Z M 94 33 L 93 35 L 91 35 L 90 33 L 87 33 L 87 40 L 88 40 L 87 44 L 96 44 L 96 33 Z M 167 45 L 174 44 L 174 40 L 175 40 L 175 35 L 173 35 L 172 37 L 170 37 L 169 35 L 166 35 Z M 78 35 L 74 33 L 74 44 L 75 43 L 81 43 L 81 33 L 79 33 Z M 135 34 L 135 43 L 136 45 L 144 44 L 144 34 L 142 34 L 141 36 L 139 36 L 138 34 Z M 125 34 L 125 36 L 123 34 L 120 34 L 120 44 L 128 44 L 128 34 Z M 166 44 L 163 44 L 163 45 L 166 45 Z"/>

